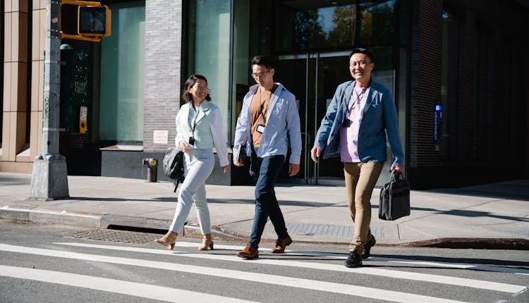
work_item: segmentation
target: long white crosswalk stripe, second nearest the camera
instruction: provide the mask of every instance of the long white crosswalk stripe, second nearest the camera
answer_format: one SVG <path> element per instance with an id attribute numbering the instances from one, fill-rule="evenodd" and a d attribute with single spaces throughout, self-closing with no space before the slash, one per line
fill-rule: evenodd
<path id="1" fill-rule="evenodd" d="M 15 245 L 0 244 L 0 250 L 6 252 L 17 252 L 20 254 L 37 254 L 41 256 L 54 256 L 59 258 L 80 259 L 86 261 L 99 261 L 112 264 L 124 264 L 130 266 L 142 266 L 149 268 L 159 268 L 167 271 L 181 271 L 207 276 L 217 276 L 221 278 L 231 278 L 236 280 L 247 280 L 253 283 L 267 283 L 287 287 L 297 287 L 302 289 L 318 290 L 322 292 L 334 292 L 343 295 L 353 295 L 357 297 L 367 297 L 369 299 L 383 299 L 391 302 L 460 302 L 451 299 L 429 297 L 425 295 L 415 295 L 406 292 L 396 292 L 393 290 L 379 290 L 371 287 L 347 285 L 341 283 L 331 283 L 320 280 L 308 280 L 302 278 L 274 276 L 265 273 L 250 273 L 245 271 L 234 271 L 224 268 L 212 268 L 205 266 L 193 266 L 186 264 L 174 264 L 160 261 L 149 261 L 141 259 L 128 259 L 116 256 L 100 256 L 93 254 L 80 254 L 76 252 L 64 252 L 52 249 L 40 249 L 34 247 L 21 247 Z"/>

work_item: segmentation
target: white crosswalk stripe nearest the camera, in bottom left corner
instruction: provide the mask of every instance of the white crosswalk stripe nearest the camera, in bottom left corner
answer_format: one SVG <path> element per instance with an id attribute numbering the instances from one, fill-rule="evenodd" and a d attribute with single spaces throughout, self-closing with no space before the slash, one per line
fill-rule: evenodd
<path id="1" fill-rule="evenodd" d="M 203 292 L 25 267 L 0 265 L 0 276 L 83 287 L 104 292 L 116 292 L 123 295 L 133 295 L 166 302 L 252 302 L 218 295 L 208 295 Z"/>

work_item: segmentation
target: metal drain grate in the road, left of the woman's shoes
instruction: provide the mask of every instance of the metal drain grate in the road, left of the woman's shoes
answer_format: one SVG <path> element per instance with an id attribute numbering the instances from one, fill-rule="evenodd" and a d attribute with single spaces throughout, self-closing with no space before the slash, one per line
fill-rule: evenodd
<path id="1" fill-rule="evenodd" d="M 135 243 L 144 244 L 152 242 L 155 238 L 161 237 L 162 235 L 156 233 L 138 233 L 127 230 L 90 230 L 83 233 L 76 233 L 68 237 L 83 240 L 95 240 L 95 241 L 107 241 L 117 243 Z"/>

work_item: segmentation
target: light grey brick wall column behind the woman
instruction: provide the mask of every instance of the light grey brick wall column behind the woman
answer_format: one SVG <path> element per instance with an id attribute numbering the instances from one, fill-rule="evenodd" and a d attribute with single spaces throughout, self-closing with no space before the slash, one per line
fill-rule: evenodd
<path id="1" fill-rule="evenodd" d="M 160 9 L 162 8 L 163 9 Z M 145 105 L 143 151 L 174 146 L 180 108 L 182 1 L 145 1 Z M 168 144 L 154 144 L 154 130 L 168 130 Z"/>

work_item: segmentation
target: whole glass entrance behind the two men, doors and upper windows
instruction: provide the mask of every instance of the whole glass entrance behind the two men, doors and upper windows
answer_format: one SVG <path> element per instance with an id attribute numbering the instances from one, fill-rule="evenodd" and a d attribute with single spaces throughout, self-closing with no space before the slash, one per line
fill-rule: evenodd
<path id="1" fill-rule="evenodd" d="M 375 54 L 373 75 L 395 92 L 397 2 L 233 0 L 231 119 L 236 121 L 243 96 L 255 83 L 248 75 L 250 59 L 272 56 L 276 59 L 274 80 L 296 95 L 300 113 L 303 152 L 295 182 L 343 184 L 340 159 L 316 165 L 310 159 L 310 149 L 336 87 L 351 80 L 348 55 L 353 46 L 367 47 Z M 406 61 L 403 64 L 406 66 Z M 232 140 L 234 129 L 233 122 Z M 279 179 L 293 180 L 288 178 L 288 163 Z"/>

